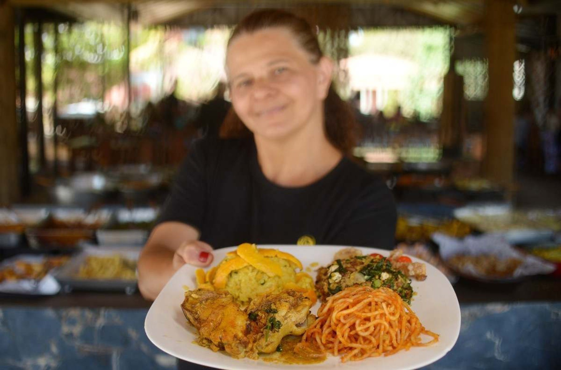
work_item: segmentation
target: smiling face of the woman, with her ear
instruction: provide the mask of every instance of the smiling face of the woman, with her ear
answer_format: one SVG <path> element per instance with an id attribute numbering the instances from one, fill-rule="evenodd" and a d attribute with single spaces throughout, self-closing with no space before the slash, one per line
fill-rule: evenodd
<path id="1" fill-rule="evenodd" d="M 227 51 L 230 96 L 256 137 L 286 139 L 306 129 L 323 132 L 323 100 L 332 64 L 312 64 L 292 33 L 275 27 L 241 34 Z"/>

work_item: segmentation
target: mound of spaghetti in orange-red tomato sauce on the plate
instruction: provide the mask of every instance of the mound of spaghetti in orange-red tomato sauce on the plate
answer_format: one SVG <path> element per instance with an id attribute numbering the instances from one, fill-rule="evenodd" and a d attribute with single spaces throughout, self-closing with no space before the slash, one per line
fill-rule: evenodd
<path id="1" fill-rule="evenodd" d="M 327 298 L 317 315 L 300 346 L 341 355 L 342 362 L 387 356 L 439 339 L 438 334 L 421 325 L 396 292 L 386 287 L 346 288 Z M 423 341 L 421 335 L 432 339 Z"/>

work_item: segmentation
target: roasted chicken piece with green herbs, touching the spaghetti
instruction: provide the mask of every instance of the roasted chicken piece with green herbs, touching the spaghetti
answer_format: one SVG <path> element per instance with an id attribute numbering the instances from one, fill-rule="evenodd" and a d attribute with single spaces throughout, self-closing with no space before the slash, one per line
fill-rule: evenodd
<path id="1" fill-rule="evenodd" d="M 246 312 L 257 352 L 272 353 L 285 336 L 304 334 L 315 321 L 311 306 L 310 298 L 297 291 L 267 294 L 251 301 Z"/>

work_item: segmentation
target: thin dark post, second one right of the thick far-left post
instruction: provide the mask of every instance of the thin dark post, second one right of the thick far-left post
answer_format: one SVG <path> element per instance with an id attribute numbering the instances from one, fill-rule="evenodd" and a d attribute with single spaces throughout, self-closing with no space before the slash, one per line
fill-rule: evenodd
<path id="1" fill-rule="evenodd" d="M 45 128 L 43 125 L 43 22 L 39 21 L 33 31 L 33 43 L 35 49 L 35 95 L 37 98 L 37 154 L 39 157 L 40 170 L 45 169 Z"/>

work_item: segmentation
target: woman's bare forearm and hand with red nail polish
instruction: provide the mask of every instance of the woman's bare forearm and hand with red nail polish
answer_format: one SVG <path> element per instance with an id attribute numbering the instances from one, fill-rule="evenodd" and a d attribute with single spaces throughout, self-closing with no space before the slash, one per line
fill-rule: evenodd
<path id="1" fill-rule="evenodd" d="M 182 265 L 212 262 L 212 247 L 198 239 L 199 232 L 185 223 L 163 222 L 154 228 L 138 262 L 138 284 L 144 298 L 154 300 Z"/>

